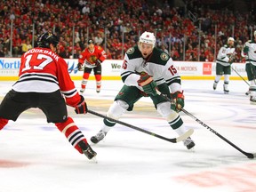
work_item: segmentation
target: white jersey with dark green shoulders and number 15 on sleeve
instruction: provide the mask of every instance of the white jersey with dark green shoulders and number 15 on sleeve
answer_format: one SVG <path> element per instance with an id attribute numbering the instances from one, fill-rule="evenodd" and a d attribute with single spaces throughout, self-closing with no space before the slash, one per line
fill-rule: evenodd
<path id="1" fill-rule="evenodd" d="M 138 85 L 140 73 L 146 72 L 152 76 L 156 84 L 168 84 L 171 92 L 182 91 L 180 75 L 174 67 L 172 58 L 160 49 L 153 49 L 151 55 L 145 60 L 139 47 L 136 45 L 130 48 L 124 56 L 124 62 L 121 68 L 121 77 L 125 85 Z"/>

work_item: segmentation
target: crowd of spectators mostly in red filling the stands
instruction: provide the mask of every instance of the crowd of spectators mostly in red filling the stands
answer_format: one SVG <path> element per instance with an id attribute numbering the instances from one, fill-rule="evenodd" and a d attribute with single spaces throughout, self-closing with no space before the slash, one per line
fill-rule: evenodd
<path id="1" fill-rule="evenodd" d="M 87 40 L 93 39 L 108 59 L 122 60 L 147 30 L 156 34 L 156 46 L 173 60 L 213 61 L 229 36 L 236 40 L 236 62 L 244 60 L 241 49 L 256 29 L 251 22 L 256 20 L 253 1 L 245 13 L 228 7 L 211 9 L 211 1 L 207 6 L 201 0 L 184 0 L 185 6 L 180 7 L 167 0 L 150 2 L 4 0 L 0 4 L 0 57 L 20 57 L 36 44 L 37 35 L 54 30 L 60 36 L 57 52 L 63 58 L 77 58 Z"/>

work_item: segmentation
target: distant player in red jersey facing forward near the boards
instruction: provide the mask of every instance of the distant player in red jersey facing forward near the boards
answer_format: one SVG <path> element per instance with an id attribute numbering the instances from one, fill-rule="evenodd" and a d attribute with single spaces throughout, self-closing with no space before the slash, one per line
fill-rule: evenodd
<path id="1" fill-rule="evenodd" d="M 88 47 L 81 52 L 78 59 L 77 68 L 84 71 L 80 92 L 83 93 L 86 88 L 89 76 L 94 72 L 96 79 L 96 92 L 100 92 L 101 87 L 101 63 L 106 60 L 106 52 L 98 45 L 94 45 L 92 40 L 88 41 Z"/>

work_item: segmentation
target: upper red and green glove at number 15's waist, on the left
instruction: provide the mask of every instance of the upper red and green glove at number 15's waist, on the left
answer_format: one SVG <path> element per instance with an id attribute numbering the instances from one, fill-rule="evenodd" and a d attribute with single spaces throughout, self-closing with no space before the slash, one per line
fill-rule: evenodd
<path id="1" fill-rule="evenodd" d="M 142 72 L 140 74 L 140 79 L 138 80 L 139 86 L 142 87 L 143 92 L 146 92 L 147 94 L 151 94 L 153 96 L 156 96 L 156 82 L 153 80 L 151 76 L 148 76 L 147 73 Z"/>

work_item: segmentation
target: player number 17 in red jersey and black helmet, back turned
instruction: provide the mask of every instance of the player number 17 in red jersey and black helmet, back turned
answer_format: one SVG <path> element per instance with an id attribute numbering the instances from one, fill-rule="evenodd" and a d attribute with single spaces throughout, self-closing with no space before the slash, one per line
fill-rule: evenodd
<path id="1" fill-rule="evenodd" d="M 38 36 L 38 46 L 21 56 L 19 80 L 0 105 L 0 130 L 28 108 L 40 108 L 48 123 L 54 123 L 76 150 L 92 159 L 97 153 L 68 116 L 66 106 L 74 107 L 76 114 L 85 114 L 86 102 L 76 91 L 68 74 L 68 64 L 55 53 L 57 44 L 59 38 L 45 32 Z"/>

